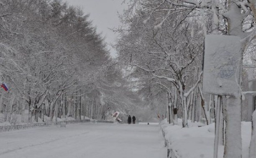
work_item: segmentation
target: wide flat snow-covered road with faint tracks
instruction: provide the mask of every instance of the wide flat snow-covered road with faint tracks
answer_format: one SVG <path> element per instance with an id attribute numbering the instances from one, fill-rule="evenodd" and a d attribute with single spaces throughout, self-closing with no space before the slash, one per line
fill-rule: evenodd
<path id="1" fill-rule="evenodd" d="M 166 158 L 159 125 L 81 123 L 0 133 L 0 158 Z"/>

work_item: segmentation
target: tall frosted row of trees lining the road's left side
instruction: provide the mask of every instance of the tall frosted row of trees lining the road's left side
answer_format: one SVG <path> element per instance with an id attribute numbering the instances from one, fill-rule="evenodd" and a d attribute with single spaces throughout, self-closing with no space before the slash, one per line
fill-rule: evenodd
<path id="1" fill-rule="evenodd" d="M 116 99 L 129 89 L 120 90 L 126 83 L 88 16 L 60 0 L 0 0 L 0 81 L 9 87 L 1 90 L 2 121 L 129 110 L 133 102 Z"/>

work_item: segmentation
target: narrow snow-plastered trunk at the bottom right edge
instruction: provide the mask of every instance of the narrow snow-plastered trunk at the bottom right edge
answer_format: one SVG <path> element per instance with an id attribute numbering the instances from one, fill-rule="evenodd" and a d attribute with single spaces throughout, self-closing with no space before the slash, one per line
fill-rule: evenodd
<path id="1" fill-rule="evenodd" d="M 256 158 L 256 110 L 253 112 L 251 122 L 251 143 L 249 150 L 249 158 Z"/>

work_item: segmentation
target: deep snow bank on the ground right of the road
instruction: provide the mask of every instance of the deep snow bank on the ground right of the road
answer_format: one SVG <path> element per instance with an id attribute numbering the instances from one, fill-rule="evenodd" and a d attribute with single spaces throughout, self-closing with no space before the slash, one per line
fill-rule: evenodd
<path id="1" fill-rule="evenodd" d="M 166 133 L 165 138 L 171 142 L 169 148 L 174 150 L 177 158 L 213 158 L 214 149 L 214 123 L 197 127 L 198 123 L 189 122 L 189 128 L 179 125 L 170 125 L 163 122 L 162 127 Z M 243 158 L 248 158 L 251 140 L 251 122 L 241 122 Z M 224 146 L 218 149 L 218 158 L 223 158 Z"/>

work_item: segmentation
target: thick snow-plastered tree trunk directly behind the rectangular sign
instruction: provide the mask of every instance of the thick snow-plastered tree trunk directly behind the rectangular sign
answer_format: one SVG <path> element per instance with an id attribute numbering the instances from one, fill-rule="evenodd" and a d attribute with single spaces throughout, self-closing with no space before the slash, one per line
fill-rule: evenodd
<path id="1" fill-rule="evenodd" d="M 228 0 L 229 10 L 225 13 L 228 19 L 228 35 L 242 35 L 241 8 L 236 3 L 238 0 Z M 244 48 L 242 48 L 244 50 Z M 241 53 L 243 53 L 241 50 Z M 238 84 L 242 86 L 241 69 L 243 59 L 240 61 L 241 68 L 238 70 Z M 242 89 L 242 88 L 241 88 Z M 241 136 L 241 96 L 227 97 L 224 107 L 225 117 L 225 145 L 223 158 L 242 158 L 242 136 Z"/>

